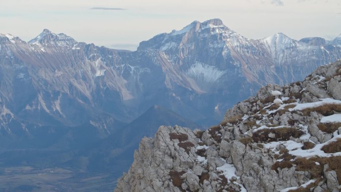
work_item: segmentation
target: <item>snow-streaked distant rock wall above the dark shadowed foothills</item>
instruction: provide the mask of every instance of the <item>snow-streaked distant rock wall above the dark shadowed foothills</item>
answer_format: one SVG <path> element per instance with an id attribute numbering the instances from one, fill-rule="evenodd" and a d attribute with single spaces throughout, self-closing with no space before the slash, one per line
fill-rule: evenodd
<path id="1" fill-rule="evenodd" d="M 248 39 L 219 19 L 159 34 L 134 52 L 47 29 L 28 43 L 1 35 L 1 131 L 29 135 L 33 125 L 91 122 L 109 134 L 113 122 L 130 122 L 155 104 L 211 123 L 261 85 L 302 79 L 341 58 L 338 39 Z"/>

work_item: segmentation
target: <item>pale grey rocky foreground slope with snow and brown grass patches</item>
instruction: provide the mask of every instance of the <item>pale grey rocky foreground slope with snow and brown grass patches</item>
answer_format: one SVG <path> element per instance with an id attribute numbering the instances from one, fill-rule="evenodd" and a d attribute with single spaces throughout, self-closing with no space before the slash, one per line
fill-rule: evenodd
<path id="1" fill-rule="evenodd" d="M 340 192 L 340 113 L 339 60 L 262 87 L 204 132 L 160 127 L 115 192 Z"/>

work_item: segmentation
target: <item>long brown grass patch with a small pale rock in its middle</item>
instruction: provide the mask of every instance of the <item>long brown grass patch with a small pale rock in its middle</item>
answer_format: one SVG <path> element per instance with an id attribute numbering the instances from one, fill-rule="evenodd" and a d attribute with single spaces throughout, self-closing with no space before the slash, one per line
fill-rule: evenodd
<path id="1" fill-rule="evenodd" d="M 274 137 L 270 137 L 271 135 Z M 262 129 L 255 132 L 252 136 L 254 142 L 274 142 L 274 141 L 288 141 L 290 137 L 299 138 L 303 135 L 301 130 L 295 128 L 276 128 L 276 129 Z"/>

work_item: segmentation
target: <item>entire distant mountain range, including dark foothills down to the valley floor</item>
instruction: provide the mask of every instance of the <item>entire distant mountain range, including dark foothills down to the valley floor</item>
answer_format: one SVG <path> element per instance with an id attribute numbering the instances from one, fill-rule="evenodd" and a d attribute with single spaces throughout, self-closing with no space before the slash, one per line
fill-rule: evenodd
<path id="1" fill-rule="evenodd" d="M 47 29 L 28 42 L 0 34 L 0 162 L 19 166 L 27 158 L 24 165 L 85 172 L 115 164 L 118 177 L 159 125 L 216 124 L 262 85 L 303 79 L 341 58 L 340 42 L 341 35 L 297 41 L 282 33 L 249 39 L 220 19 L 156 35 L 136 51 Z M 98 155 L 96 146 L 108 150 Z"/>

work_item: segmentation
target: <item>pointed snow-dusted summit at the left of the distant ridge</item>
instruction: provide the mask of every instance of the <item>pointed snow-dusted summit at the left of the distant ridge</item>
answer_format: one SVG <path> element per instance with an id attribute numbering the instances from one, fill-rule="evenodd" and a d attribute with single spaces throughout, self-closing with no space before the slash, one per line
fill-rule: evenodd
<path id="1" fill-rule="evenodd" d="M 30 44 L 35 44 L 35 43 L 51 43 L 51 42 L 75 42 L 75 40 L 70 37 L 67 36 L 64 33 L 53 33 L 52 31 L 50 31 L 49 29 L 44 29 L 38 36 L 36 36 L 35 38 L 33 38 L 32 40 L 28 41 L 28 43 Z M 59 43 L 59 45 L 61 45 Z"/>

